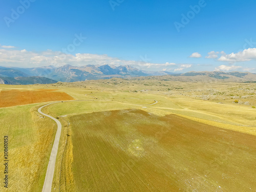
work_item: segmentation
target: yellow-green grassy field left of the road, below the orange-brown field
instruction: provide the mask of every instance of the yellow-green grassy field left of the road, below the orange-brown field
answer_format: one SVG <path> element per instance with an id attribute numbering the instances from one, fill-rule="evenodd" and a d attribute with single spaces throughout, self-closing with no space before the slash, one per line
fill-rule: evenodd
<path id="1" fill-rule="evenodd" d="M 37 105 L 0 108 L 0 136 L 9 139 L 9 187 L 1 185 L 0 191 L 42 189 L 57 126 L 37 113 Z"/>

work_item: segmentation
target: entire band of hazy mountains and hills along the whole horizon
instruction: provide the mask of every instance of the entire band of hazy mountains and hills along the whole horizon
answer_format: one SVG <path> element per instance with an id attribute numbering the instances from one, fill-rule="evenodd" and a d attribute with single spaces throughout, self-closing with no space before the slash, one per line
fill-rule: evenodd
<path id="1" fill-rule="evenodd" d="M 142 71 L 132 66 L 87 65 L 61 67 L 46 66 L 37 68 L 7 68 L 0 67 L 1 84 L 35 84 L 74 82 L 84 80 L 108 79 L 112 77 L 130 78 L 139 76 L 172 75 L 179 79 L 225 79 L 232 81 L 256 81 L 256 74 L 249 72 L 187 72 L 171 73 L 167 71 Z"/>

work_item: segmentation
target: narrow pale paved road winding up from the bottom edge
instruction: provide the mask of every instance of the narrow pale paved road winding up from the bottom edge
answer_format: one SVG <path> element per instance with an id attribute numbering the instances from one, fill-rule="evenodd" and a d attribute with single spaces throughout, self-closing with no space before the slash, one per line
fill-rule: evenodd
<path id="1" fill-rule="evenodd" d="M 61 102 L 61 101 L 59 101 L 59 102 Z M 53 103 L 58 103 L 58 102 L 53 102 Z M 53 104 L 53 103 L 49 103 L 49 104 Z M 47 167 L 46 178 L 45 178 L 44 186 L 42 187 L 42 192 L 51 192 L 51 189 L 52 189 L 52 180 L 53 180 L 55 162 L 56 162 L 56 157 L 57 157 L 57 152 L 58 152 L 59 138 L 60 138 L 60 133 L 61 133 L 61 123 L 57 119 L 53 118 L 52 116 L 41 112 L 41 109 L 49 104 L 41 106 L 38 109 L 38 113 L 53 119 L 57 123 L 58 127 L 57 127 L 57 132 L 55 135 L 54 143 L 52 146 L 52 152 L 51 152 L 49 164 Z"/>

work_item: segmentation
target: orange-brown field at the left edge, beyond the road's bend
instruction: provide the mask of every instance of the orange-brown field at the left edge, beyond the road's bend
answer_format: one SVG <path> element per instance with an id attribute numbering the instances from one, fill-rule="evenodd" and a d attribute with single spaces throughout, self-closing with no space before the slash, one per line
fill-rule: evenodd
<path id="1" fill-rule="evenodd" d="M 8 90 L 0 92 L 0 108 L 47 101 L 73 99 L 74 98 L 67 93 L 56 92 L 56 89 Z"/>

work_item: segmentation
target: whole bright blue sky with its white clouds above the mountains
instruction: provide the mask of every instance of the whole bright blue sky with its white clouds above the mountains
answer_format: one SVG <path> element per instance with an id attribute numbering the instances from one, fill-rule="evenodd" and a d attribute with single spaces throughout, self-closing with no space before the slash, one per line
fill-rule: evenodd
<path id="1" fill-rule="evenodd" d="M 0 2 L 0 66 L 256 73 L 256 1 Z"/>

